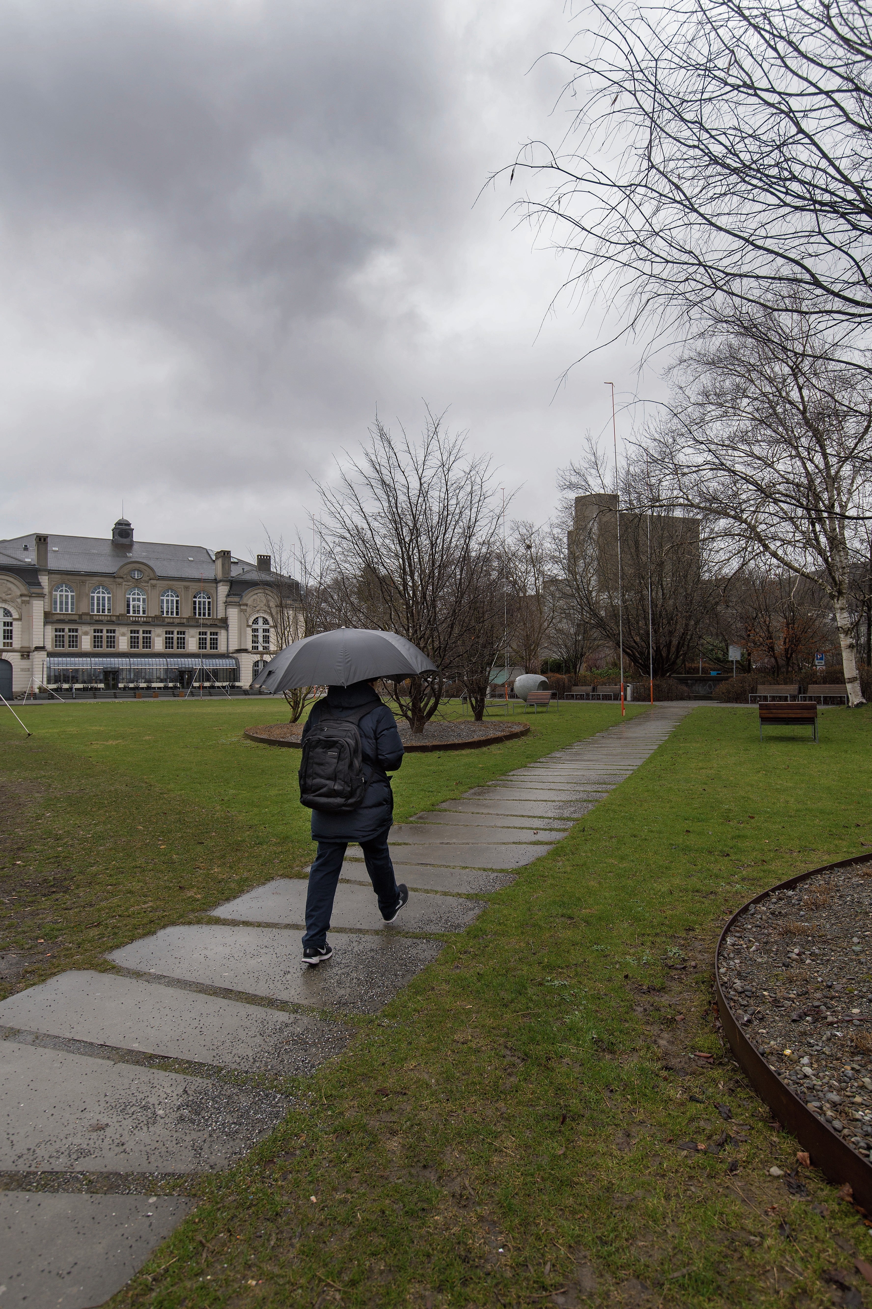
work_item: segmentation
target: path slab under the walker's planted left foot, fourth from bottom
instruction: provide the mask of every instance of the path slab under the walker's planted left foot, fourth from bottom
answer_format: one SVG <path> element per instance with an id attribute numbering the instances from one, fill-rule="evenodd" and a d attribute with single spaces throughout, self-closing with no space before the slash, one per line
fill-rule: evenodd
<path id="1" fill-rule="evenodd" d="M 339 932 L 331 933 L 329 941 L 329 963 L 303 969 L 299 936 L 281 927 L 165 927 L 112 950 L 110 958 L 139 973 L 318 1009 L 375 1013 L 442 949 L 441 941 L 391 932 Z"/>

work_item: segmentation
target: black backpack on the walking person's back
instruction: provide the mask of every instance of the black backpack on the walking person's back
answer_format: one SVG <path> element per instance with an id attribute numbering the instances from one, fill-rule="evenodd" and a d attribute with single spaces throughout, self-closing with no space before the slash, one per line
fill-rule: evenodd
<path id="1" fill-rule="evenodd" d="M 343 814 L 358 809 L 369 778 L 361 753 L 357 724 L 377 708 L 371 702 L 352 709 L 341 719 L 324 704 L 318 723 L 303 742 L 299 764 L 299 802 L 326 814 Z"/>

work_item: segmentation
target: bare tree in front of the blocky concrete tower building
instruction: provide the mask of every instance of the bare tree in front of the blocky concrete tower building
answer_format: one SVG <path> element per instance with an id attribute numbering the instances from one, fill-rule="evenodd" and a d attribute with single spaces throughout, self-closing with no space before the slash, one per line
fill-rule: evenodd
<path id="1" fill-rule="evenodd" d="M 706 558 L 698 518 L 664 512 L 645 459 L 628 462 L 618 495 L 596 445 L 560 474 L 563 491 L 578 492 L 565 556 L 566 585 L 590 627 L 624 651 L 647 675 L 667 677 L 699 648 L 720 596 Z M 617 563 L 617 511 L 621 517 L 621 571 Z M 652 641 L 651 641 L 652 635 Z"/>

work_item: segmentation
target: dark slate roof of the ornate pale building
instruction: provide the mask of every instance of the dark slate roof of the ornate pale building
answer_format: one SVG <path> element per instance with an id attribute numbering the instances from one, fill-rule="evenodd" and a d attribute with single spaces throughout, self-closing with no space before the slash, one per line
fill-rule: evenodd
<path id="1" fill-rule="evenodd" d="M 27 547 L 25 550 L 25 546 Z M 102 573 L 112 576 L 122 564 L 144 563 L 161 577 L 199 581 L 214 580 L 214 551 L 205 546 L 176 546 L 161 541 L 136 541 L 131 550 L 114 546 L 105 537 L 48 537 L 48 571 Z M 35 568 L 37 542 L 33 533 L 0 541 L 0 569 L 18 572 L 22 565 Z M 258 575 L 255 564 L 247 559 L 234 559 L 230 576 Z"/>

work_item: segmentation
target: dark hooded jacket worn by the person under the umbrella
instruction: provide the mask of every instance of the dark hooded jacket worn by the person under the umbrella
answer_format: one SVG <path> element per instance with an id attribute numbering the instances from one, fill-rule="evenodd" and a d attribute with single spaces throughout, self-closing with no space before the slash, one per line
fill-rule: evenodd
<path id="1" fill-rule="evenodd" d="M 369 784 L 363 802 L 346 814 L 324 814 L 312 809 L 312 840 L 373 840 L 387 834 L 394 821 L 394 792 L 387 778 L 403 763 L 403 742 L 396 729 L 396 719 L 387 704 L 375 694 L 369 682 L 354 682 L 352 686 L 328 686 L 327 704 L 336 717 L 343 711 L 357 709 L 371 700 L 371 713 L 365 713 L 357 724 L 361 733 L 361 754 Z M 312 706 L 302 740 L 322 716 L 324 700 Z"/>

